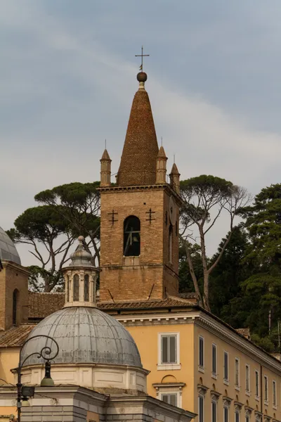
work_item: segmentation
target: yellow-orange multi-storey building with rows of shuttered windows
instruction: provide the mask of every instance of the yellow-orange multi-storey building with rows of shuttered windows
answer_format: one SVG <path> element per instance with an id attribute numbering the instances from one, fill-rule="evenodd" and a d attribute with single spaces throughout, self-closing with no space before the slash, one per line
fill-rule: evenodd
<path id="1" fill-rule="evenodd" d="M 118 312 L 150 370 L 150 395 L 197 422 L 281 420 L 280 361 L 223 321 L 196 305 Z"/>

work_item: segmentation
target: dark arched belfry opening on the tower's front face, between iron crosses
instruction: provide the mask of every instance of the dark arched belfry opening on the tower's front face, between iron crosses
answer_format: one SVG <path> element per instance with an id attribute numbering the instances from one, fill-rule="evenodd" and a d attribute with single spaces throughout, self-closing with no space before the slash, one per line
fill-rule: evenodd
<path id="1" fill-rule="evenodd" d="M 124 255 L 138 257 L 141 254 L 141 222 L 130 215 L 124 221 Z"/>

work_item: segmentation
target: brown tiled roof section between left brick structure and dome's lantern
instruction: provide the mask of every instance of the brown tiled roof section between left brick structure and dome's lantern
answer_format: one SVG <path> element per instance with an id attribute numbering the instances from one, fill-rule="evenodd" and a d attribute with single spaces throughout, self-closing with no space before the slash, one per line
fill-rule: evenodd
<path id="1" fill-rule="evenodd" d="M 65 305 L 65 293 L 32 293 L 28 295 L 30 320 L 43 319 Z"/>

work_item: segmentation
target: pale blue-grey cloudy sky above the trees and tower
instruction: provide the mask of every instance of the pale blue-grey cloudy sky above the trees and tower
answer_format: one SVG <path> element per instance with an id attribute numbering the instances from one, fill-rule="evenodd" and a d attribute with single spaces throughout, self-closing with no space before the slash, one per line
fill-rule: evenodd
<path id="1" fill-rule="evenodd" d="M 280 0 L 0 0 L 0 226 L 46 188 L 98 180 L 105 139 L 117 172 L 142 45 L 168 169 L 175 155 L 181 179 L 253 195 L 279 183 L 280 20 Z"/>

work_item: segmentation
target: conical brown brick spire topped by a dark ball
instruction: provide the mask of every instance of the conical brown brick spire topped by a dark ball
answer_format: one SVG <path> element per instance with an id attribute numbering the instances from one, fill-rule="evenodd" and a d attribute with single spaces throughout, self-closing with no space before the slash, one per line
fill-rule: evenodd
<path id="1" fill-rule="evenodd" d="M 159 151 L 148 93 L 145 91 L 145 72 L 138 73 L 140 84 L 133 98 L 131 114 L 117 185 L 148 185 L 156 182 L 156 162 Z"/>

